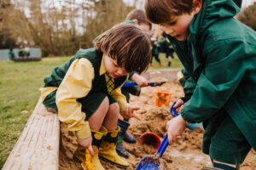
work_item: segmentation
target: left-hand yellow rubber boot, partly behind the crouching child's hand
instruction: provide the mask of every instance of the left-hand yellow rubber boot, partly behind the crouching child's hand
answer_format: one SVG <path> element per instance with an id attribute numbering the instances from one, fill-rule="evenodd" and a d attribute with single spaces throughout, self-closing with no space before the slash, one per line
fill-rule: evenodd
<path id="1" fill-rule="evenodd" d="M 92 137 L 92 149 L 94 151 L 94 156 L 91 158 L 91 162 L 94 165 L 94 168 L 96 170 L 105 170 L 105 168 L 102 167 L 102 163 L 99 160 L 98 155 L 99 155 L 99 147 L 102 144 L 102 140 L 108 133 L 107 128 L 101 127 L 100 132 L 92 129 L 90 129 L 90 131 L 91 131 L 91 137 Z M 85 151 L 81 150 L 80 147 L 78 148 L 78 150 L 75 151 L 74 159 L 79 161 L 80 163 L 83 163 L 85 167 L 86 167 L 86 164 L 88 165 L 88 160 L 87 162 L 85 162 Z M 82 165 L 82 167 L 84 165 Z"/>

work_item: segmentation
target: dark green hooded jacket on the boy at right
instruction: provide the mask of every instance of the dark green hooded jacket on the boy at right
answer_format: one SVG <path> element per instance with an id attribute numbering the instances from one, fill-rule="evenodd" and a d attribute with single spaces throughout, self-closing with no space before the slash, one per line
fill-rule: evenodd
<path id="1" fill-rule="evenodd" d="M 187 41 L 168 38 L 193 93 L 183 119 L 204 122 L 224 109 L 256 150 L 256 32 L 234 18 L 240 7 L 240 0 L 204 0 Z"/>

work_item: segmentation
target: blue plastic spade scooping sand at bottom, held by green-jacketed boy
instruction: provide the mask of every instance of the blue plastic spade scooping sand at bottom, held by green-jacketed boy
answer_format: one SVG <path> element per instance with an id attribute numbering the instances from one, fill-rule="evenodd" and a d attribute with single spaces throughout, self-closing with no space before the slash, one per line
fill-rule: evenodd
<path id="1" fill-rule="evenodd" d="M 168 135 L 166 134 L 154 156 L 144 156 L 137 165 L 136 170 L 164 170 L 165 167 L 160 158 L 163 156 L 168 144 Z"/>

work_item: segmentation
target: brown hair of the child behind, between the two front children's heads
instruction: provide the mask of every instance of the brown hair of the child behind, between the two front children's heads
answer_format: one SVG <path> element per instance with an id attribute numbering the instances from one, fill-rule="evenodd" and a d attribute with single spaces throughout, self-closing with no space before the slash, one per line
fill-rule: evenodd
<path id="1" fill-rule="evenodd" d="M 133 9 L 126 16 L 126 20 L 137 20 L 137 24 L 147 24 L 151 28 L 151 23 L 148 21 L 145 12 L 141 9 Z"/>

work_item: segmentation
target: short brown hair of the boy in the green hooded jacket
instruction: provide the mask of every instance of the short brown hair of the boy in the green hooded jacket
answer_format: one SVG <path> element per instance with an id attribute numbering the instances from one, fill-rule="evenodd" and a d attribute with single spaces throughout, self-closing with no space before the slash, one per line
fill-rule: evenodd
<path id="1" fill-rule="evenodd" d="M 172 16 L 191 14 L 200 0 L 146 0 L 148 20 L 155 24 L 167 23 Z"/>

